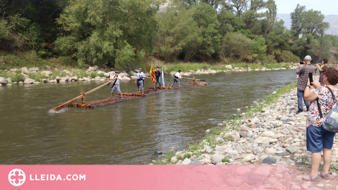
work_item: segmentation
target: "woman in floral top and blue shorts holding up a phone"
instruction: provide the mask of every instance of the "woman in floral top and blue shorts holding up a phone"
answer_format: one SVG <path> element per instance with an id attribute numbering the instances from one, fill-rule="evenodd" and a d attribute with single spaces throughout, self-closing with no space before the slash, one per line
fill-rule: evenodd
<path id="1" fill-rule="evenodd" d="M 312 82 L 314 90 L 310 93 L 310 81 L 304 91 L 304 99 L 311 102 L 307 114 L 307 151 L 311 152 L 312 168 L 311 173 L 303 176 L 304 180 L 318 182 L 319 177 L 329 179 L 329 168 L 332 159 L 332 146 L 336 133 L 327 131 L 323 127 L 331 108 L 338 100 L 338 70 L 332 67 L 326 69 L 323 78 L 326 86 L 319 86 Z M 318 109 L 319 107 L 319 109 Z M 318 172 L 321 151 L 323 151 L 324 168 Z"/>

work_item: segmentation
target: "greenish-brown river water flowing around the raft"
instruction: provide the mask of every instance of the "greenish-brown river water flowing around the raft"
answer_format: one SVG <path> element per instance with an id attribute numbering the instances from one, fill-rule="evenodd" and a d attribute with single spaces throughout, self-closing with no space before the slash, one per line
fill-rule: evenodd
<path id="1" fill-rule="evenodd" d="M 295 81 L 295 70 L 197 75 L 207 87 L 175 89 L 94 109 L 55 108 L 104 82 L 0 87 L 0 164 L 142 164 L 185 148 L 213 123 Z M 165 76 L 167 84 L 172 77 Z M 181 80 L 182 83 L 190 82 Z M 122 92 L 136 90 L 121 81 Z M 110 95 L 103 87 L 87 101 Z M 116 92 L 115 92 L 116 93 Z"/>

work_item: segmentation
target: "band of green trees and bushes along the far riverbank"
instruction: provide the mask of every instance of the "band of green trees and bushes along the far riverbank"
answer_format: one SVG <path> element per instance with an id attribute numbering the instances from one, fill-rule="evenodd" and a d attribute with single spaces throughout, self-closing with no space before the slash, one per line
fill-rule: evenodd
<path id="1" fill-rule="evenodd" d="M 320 11 L 297 5 L 289 30 L 274 0 L 1 0 L 0 13 L 0 69 L 338 57 L 338 37 L 325 34 Z"/>

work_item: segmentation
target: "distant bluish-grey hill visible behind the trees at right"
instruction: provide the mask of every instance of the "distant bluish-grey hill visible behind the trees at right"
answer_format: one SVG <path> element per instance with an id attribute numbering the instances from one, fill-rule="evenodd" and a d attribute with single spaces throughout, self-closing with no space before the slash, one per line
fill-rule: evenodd
<path id="1" fill-rule="evenodd" d="M 282 19 L 285 22 L 285 27 L 291 28 L 290 14 L 277 14 L 277 17 L 278 20 Z M 330 28 L 325 33 L 338 35 L 338 15 L 325 15 L 324 22 L 330 23 Z"/>

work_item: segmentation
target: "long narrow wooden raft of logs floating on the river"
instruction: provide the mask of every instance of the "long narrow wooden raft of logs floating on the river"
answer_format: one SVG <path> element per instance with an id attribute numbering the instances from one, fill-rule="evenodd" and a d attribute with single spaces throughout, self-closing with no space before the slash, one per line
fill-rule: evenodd
<path id="1" fill-rule="evenodd" d="M 201 85 L 183 84 L 181 87 L 173 86 L 172 89 L 193 88 L 193 87 L 201 87 Z M 135 100 L 135 99 L 143 98 L 143 97 L 150 96 L 150 95 L 153 95 L 153 94 L 157 94 L 157 93 L 167 91 L 167 90 L 171 90 L 171 89 L 156 89 L 156 91 L 154 89 L 150 89 L 149 93 L 145 93 L 144 96 L 122 96 L 123 100 L 121 100 L 121 96 L 113 96 L 112 98 L 107 97 L 107 98 L 103 98 L 103 99 L 99 99 L 99 100 L 93 100 L 93 101 L 86 102 L 86 105 L 90 105 L 91 107 L 89 107 L 89 108 L 95 108 L 95 107 L 99 107 L 99 106 L 105 106 L 105 105 L 109 105 L 109 104 L 115 104 L 115 103 L 119 103 L 119 102 Z M 133 92 L 133 93 L 136 93 L 136 92 Z M 70 104 L 69 107 L 76 107 L 76 104 Z"/>

